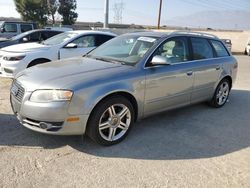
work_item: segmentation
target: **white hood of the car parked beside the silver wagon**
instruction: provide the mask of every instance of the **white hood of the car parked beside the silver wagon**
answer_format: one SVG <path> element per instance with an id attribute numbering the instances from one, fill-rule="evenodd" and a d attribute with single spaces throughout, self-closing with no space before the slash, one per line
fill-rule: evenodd
<path id="1" fill-rule="evenodd" d="M 1 44 L 1 43 L 0 43 Z M 25 43 L 25 44 L 17 44 L 2 48 L 1 50 L 6 52 L 30 52 L 30 51 L 38 51 L 38 50 L 48 50 L 50 47 L 39 44 L 39 43 Z"/>

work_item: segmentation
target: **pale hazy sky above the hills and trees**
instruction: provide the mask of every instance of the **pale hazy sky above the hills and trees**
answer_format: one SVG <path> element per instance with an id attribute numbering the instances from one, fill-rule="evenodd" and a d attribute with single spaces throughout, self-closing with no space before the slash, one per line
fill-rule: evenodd
<path id="1" fill-rule="evenodd" d="M 109 22 L 114 22 L 114 4 L 123 2 L 122 23 L 156 25 L 160 0 L 109 0 Z M 104 0 L 77 0 L 78 21 L 103 22 Z M 200 12 L 227 12 L 232 13 L 232 19 L 237 12 L 242 12 L 242 19 L 249 22 L 250 0 L 163 0 L 161 25 L 183 25 L 180 20 L 189 18 L 190 15 L 197 16 Z M 212 13 L 213 14 L 213 13 Z M 15 10 L 12 0 L 0 0 L 0 17 L 20 17 Z M 195 19 L 195 17 L 191 17 Z M 209 12 L 204 17 L 209 17 Z M 228 16 L 228 14 L 227 14 Z M 230 14 L 229 14 L 230 17 Z M 239 17 L 239 15 L 238 15 Z M 237 19 L 238 19 L 237 17 Z M 207 18 L 206 18 L 207 19 Z M 211 15 L 211 19 L 214 19 Z M 218 18 L 219 19 L 219 18 Z M 214 20 L 216 22 L 216 20 Z M 237 22 L 237 21 L 234 21 Z M 185 24 L 185 23 L 184 23 Z M 193 25 L 192 25 L 193 24 Z M 191 25 L 203 26 L 202 19 Z M 225 23 L 228 27 L 228 23 Z M 241 26 L 243 24 L 243 26 Z M 233 23 L 232 27 L 245 27 L 244 22 Z M 220 25 L 224 27 L 223 23 Z M 248 25 L 247 25 L 248 27 Z M 250 28 L 250 27 L 249 27 Z"/>

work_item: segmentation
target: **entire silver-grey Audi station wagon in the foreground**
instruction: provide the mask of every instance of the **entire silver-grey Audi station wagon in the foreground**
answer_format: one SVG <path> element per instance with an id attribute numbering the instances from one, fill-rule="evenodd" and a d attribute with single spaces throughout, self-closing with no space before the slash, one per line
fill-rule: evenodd
<path id="1" fill-rule="evenodd" d="M 10 98 L 14 114 L 31 130 L 86 133 L 112 145 L 137 119 L 202 101 L 222 107 L 236 73 L 236 59 L 215 36 L 138 32 L 85 57 L 19 73 Z"/>

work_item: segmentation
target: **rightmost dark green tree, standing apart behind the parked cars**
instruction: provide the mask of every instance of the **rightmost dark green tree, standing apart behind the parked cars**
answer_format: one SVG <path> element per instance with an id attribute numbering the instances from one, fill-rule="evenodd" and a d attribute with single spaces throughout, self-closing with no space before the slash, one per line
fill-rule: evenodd
<path id="1" fill-rule="evenodd" d="M 59 0 L 58 13 L 62 16 L 63 25 L 72 25 L 75 23 L 78 14 L 76 9 L 76 0 Z"/>

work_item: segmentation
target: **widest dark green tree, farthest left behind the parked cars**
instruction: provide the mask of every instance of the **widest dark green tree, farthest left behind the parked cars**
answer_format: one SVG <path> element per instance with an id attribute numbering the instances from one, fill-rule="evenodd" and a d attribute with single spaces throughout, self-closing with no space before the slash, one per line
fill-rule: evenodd
<path id="1" fill-rule="evenodd" d="M 16 10 L 24 21 L 35 21 L 40 27 L 48 20 L 46 0 L 14 0 Z"/>

